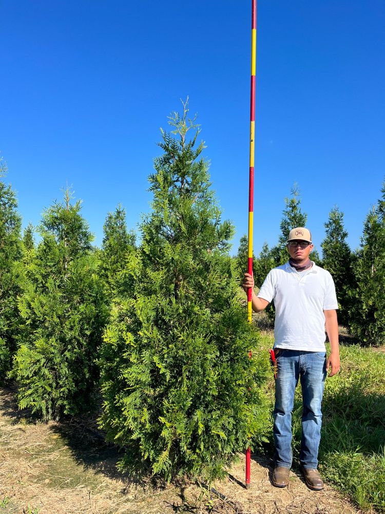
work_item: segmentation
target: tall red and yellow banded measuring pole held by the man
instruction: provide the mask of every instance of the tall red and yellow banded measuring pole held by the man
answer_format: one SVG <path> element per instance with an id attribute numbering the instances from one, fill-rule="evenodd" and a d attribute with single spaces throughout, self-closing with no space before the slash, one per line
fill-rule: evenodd
<path id="1" fill-rule="evenodd" d="M 252 0 L 252 75 L 250 86 L 250 158 L 248 183 L 247 272 L 253 274 L 254 153 L 255 153 L 255 70 L 257 60 L 257 0 Z M 252 288 L 247 290 L 247 320 L 252 322 Z M 246 450 L 246 489 L 250 487 L 251 449 Z"/>

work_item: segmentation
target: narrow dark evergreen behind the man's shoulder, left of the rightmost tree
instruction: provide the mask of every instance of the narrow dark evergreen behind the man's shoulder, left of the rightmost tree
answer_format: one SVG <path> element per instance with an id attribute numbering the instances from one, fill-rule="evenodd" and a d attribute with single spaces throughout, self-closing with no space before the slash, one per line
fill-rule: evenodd
<path id="1" fill-rule="evenodd" d="M 349 290 L 354 288 L 352 252 L 345 241 L 348 232 L 343 227 L 343 212 L 337 206 L 329 213 L 325 223 L 326 236 L 321 243 L 322 266 L 330 271 L 336 286 L 339 304 L 338 320 L 347 326 L 349 320 Z"/>

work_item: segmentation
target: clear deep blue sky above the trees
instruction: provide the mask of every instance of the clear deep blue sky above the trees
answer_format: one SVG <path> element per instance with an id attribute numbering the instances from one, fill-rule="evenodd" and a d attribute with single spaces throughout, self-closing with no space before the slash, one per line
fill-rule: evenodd
<path id="1" fill-rule="evenodd" d="M 72 185 L 100 245 L 149 211 L 167 116 L 190 98 L 223 217 L 247 232 L 251 2 L 0 4 L 0 151 L 23 224 Z M 258 0 L 254 250 L 295 181 L 316 246 L 337 204 L 352 248 L 385 176 L 385 2 Z"/>

